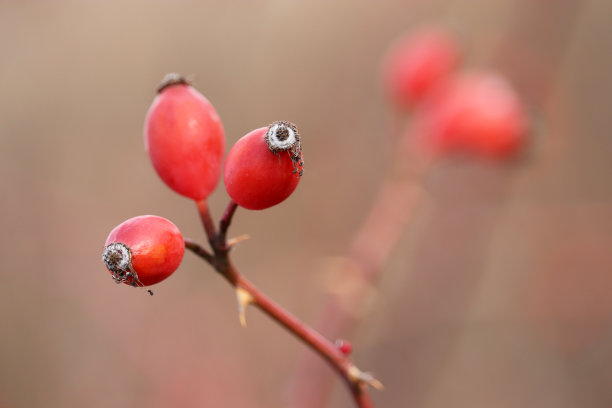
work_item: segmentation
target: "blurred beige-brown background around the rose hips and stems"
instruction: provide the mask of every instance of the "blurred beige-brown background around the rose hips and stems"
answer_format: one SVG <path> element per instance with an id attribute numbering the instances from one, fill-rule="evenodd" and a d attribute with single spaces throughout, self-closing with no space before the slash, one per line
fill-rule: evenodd
<path id="1" fill-rule="evenodd" d="M 241 271 L 306 322 L 391 153 L 380 63 L 423 23 L 507 75 L 537 118 L 519 165 L 444 162 L 346 337 L 380 407 L 612 406 L 612 5 L 606 1 L 0 1 L 0 406 L 284 407 L 305 348 L 186 253 L 117 286 L 110 230 L 156 214 L 203 240 L 142 127 L 167 72 L 193 78 L 228 149 L 298 124 L 296 193 L 239 210 Z M 211 198 L 217 216 L 222 186 Z M 294 233 L 295 230 L 299 233 Z M 329 403 L 351 407 L 330 376 Z"/>

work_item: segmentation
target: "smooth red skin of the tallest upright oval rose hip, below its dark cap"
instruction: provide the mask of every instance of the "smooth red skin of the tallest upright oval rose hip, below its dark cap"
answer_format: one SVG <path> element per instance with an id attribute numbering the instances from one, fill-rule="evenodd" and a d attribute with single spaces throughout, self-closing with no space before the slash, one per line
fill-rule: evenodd
<path id="1" fill-rule="evenodd" d="M 172 190 L 196 201 L 210 195 L 221 175 L 225 133 L 202 94 L 186 82 L 161 88 L 144 134 L 153 167 Z"/>

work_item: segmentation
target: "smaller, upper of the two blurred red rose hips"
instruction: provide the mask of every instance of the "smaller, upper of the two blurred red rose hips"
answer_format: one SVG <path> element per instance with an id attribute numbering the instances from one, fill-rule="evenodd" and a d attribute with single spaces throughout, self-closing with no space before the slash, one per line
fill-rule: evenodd
<path id="1" fill-rule="evenodd" d="M 391 102 L 410 108 L 459 65 L 454 37 L 438 27 L 426 27 L 401 37 L 391 46 L 383 80 Z"/>

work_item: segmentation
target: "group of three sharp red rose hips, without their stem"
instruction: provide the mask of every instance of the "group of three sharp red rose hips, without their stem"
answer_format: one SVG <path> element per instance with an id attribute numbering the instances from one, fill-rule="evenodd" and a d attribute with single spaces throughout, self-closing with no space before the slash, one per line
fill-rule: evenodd
<path id="1" fill-rule="evenodd" d="M 211 103 L 178 74 L 168 74 L 145 120 L 145 147 L 160 178 L 175 192 L 205 203 L 221 176 L 225 133 Z M 302 145 L 290 122 L 274 122 L 242 137 L 223 167 L 237 205 L 272 207 L 291 195 L 303 171 Z M 185 242 L 170 221 L 152 215 L 115 227 L 102 260 L 117 283 L 149 286 L 179 266 Z M 152 293 L 152 292 L 150 292 Z"/>

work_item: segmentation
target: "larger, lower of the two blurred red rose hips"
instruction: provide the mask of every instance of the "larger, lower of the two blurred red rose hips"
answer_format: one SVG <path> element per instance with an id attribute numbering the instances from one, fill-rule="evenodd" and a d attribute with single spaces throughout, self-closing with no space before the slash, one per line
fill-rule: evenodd
<path id="1" fill-rule="evenodd" d="M 463 73 L 440 84 L 414 116 L 418 137 L 437 152 L 509 158 L 524 147 L 528 119 L 512 85 L 490 71 Z"/>

